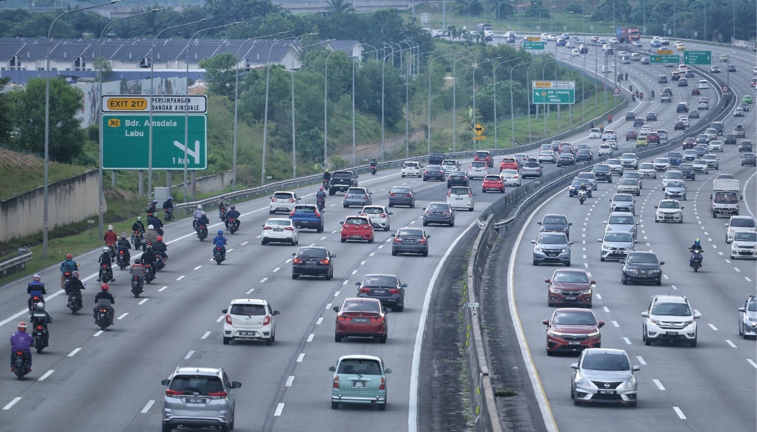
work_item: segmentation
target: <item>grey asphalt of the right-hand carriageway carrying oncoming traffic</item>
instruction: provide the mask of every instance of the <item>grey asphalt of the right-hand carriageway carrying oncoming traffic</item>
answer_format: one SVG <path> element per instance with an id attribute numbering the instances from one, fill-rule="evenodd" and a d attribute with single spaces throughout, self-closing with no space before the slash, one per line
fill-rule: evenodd
<path id="1" fill-rule="evenodd" d="M 644 39 L 644 46 L 649 46 L 649 42 L 649 39 Z M 755 65 L 754 53 L 689 42 L 686 45 L 687 49 L 712 49 L 713 64 L 719 64 L 723 70 L 726 64 L 716 62 L 718 55 L 731 55 L 730 63 L 736 64 L 738 69 L 731 74 L 732 89 L 739 101 L 742 95 L 754 97 L 754 88 L 749 86 L 752 66 Z M 671 70 L 662 65 L 631 64 L 628 74 L 629 80 L 632 74 L 635 77 L 631 80 L 634 88 L 639 86 L 645 94 L 654 88 L 659 95 L 662 86 L 671 86 L 674 93 L 678 89 L 674 83 L 656 83 L 657 75 L 669 76 Z M 690 79 L 690 83 L 697 80 L 699 78 Z M 624 86 L 627 87 L 625 83 Z M 680 99 L 693 105 L 697 96 L 688 94 L 690 88 L 682 88 L 685 92 Z M 712 96 L 715 90 L 702 90 L 702 95 L 709 95 L 711 106 L 714 105 Z M 678 99 L 674 95 L 673 103 L 657 108 L 660 116 L 658 127 L 665 127 L 671 133 Z M 650 102 L 645 102 L 645 105 L 656 103 Z M 641 111 L 643 114 L 646 109 Z M 693 127 L 697 122 L 693 121 Z M 621 120 L 619 123 L 622 126 L 616 127 L 618 134 L 633 129 L 628 122 Z M 743 118 L 734 118 L 729 114 L 724 120 L 726 133 L 736 124 L 743 124 L 747 130 L 746 139 L 755 142 L 757 120 L 753 108 Z M 528 365 L 534 366 L 535 374 L 531 376 L 537 383 L 536 391 L 540 393 L 543 389 L 546 396 L 542 408 L 543 412 L 548 413 L 547 430 L 583 431 L 587 424 L 597 430 L 754 430 L 757 423 L 757 349 L 755 340 L 739 337 L 737 308 L 743 305 L 747 296 L 755 294 L 757 269 L 754 261 L 730 259 L 730 245 L 725 243 L 726 229 L 723 227 L 727 218 L 712 218 L 709 195 L 712 179 L 718 173 L 733 174 L 743 188 L 741 214 L 755 214 L 755 168 L 740 166 L 740 153 L 736 146 L 724 146 L 724 153 L 718 155 L 719 170 L 710 170 L 709 174 L 699 174 L 696 180 L 687 181 L 689 194 L 687 201 L 682 202 L 683 224 L 654 222 L 654 206 L 664 198 L 662 176 L 659 175 L 657 180 L 643 180 L 641 196 L 636 198 L 637 222 L 640 224 L 637 250 L 656 252 L 659 259 L 665 261 L 662 286 L 622 285 L 621 265 L 616 261 L 600 261 L 597 239 L 604 233 L 603 221 L 609 215 L 609 200 L 615 193 L 617 177 L 615 183 L 600 183 L 599 190 L 594 192 L 592 199 L 587 200 L 587 205 L 579 205 L 562 189 L 534 208 L 522 230 L 513 234 L 515 246 L 509 265 L 503 264 L 496 271 L 500 277 L 511 278 L 508 290 L 515 303 L 510 306 L 516 307 L 517 318 L 525 335 L 524 358 Z M 625 349 L 632 364 L 640 365 L 641 369 L 636 375 L 639 383 L 637 409 L 574 406 L 570 398 L 570 365 L 576 361 L 576 355 L 547 356 L 545 352 L 545 326 L 541 321 L 550 318 L 554 309 L 547 306 L 547 284 L 544 279 L 550 277 L 559 266 L 534 268 L 531 263 L 533 246 L 529 241 L 535 239 L 539 232 L 536 222 L 547 213 L 565 214 L 573 223 L 571 239 L 575 240 L 575 244 L 572 246 L 572 267 L 586 269 L 590 278 L 597 281 L 593 311 L 598 320 L 606 322 L 601 330 L 602 347 Z M 697 237 L 702 239 L 705 248 L 704 267 L 699 273 L 694 273 L 688 266 L 687 250 Z M 508 262 L 497 255 L 491 256 L 491 260 Z M 702 318 L 697 320 L 696 348 L 667 343 L 644 345 L 640 312 L 646 310 L 654 294 L 687 296 L 692 307 L 702 314 Z M 508 308 L 507 293 L 501 294 L 500 301 L 498 308 Z"/>

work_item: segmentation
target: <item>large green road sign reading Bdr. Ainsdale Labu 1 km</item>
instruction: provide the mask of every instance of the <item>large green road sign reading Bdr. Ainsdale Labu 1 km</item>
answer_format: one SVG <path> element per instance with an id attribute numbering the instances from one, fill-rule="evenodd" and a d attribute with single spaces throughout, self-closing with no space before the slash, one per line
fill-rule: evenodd
<path id="1" fill-rule="evenodd" d="M 207 117 L 188 116 L 187 167 L 207 169 Z M 152 167 L 184 169 L 184 114 L 154 114 L 152 117 Z M 104 114 L 102 116 L 102 167 L 107 170 L 146 170 L 150 139 L 149 114 Z"/>

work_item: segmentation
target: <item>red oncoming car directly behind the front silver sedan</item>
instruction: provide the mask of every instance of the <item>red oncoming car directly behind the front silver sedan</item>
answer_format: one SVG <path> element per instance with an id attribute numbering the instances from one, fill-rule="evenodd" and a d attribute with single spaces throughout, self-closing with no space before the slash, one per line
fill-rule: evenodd
<path id="1" fill-rule="evenodd" d="M 601 348 L 600 327 L 594 312 L 579 308 L 559 308 L 552 319 L 541 321 L 547 326 L 547 355 L 559 351 L 581 351 Z"/>

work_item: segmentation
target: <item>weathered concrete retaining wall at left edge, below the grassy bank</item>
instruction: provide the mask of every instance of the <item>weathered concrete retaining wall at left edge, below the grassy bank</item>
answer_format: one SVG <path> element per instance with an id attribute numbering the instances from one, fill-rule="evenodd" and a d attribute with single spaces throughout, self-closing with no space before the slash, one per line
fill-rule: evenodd
<path id="1" fill-rule="evenodd" d="M 98 171 L 92 170 L 50 183 L 49 230 L 98 214 Z M 43 188 L 0 202 L 0 241 L 42 233 Z M 107 205 L 106 205 L 107 208 Z"/>

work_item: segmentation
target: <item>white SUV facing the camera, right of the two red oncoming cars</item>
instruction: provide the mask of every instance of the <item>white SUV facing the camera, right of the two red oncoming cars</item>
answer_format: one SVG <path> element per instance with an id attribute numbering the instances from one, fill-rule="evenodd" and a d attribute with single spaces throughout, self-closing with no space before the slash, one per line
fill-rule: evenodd
<path id="1" fill-rule="evenodd" d="M 684 296 L 653 296 L 650 307 L 641 312 L 644 317 L 641 338 L 646 345 L 655 341 L 684 342 L 696 346 L 696 318 Z"/>

